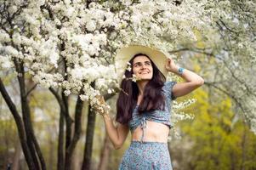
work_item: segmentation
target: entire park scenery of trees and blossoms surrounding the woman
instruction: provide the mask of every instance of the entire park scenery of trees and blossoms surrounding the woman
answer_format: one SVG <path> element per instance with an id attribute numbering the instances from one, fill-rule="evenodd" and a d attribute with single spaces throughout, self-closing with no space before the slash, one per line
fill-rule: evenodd
<path id="1" fill-rule="evenodd" d="M 134 43 L 205 80 L 173 102 L 174 170 L 255 170 L 255 9 L 252 0 L 0 0 L 0 169 L 117 169 L 130 135 L 114 150 L 90 105 L 101 93 L 115 119 L 114 56 Z"/>

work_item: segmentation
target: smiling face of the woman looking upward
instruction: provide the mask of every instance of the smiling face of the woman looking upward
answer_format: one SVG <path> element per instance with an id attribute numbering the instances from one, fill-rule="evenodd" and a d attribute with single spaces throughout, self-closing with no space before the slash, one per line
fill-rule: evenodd
<path id="1" fill-rule="evenodd" d="M 139 55 L 134 58 L 132 68 L 134 75 L 138 77 L 139 80 L 151 80 L 153 77 L 151 60 L 144 55 Z"/>

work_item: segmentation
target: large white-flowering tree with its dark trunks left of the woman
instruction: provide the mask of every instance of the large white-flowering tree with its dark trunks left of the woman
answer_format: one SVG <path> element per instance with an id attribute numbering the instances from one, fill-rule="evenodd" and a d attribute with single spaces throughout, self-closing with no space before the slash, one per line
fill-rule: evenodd
<path id="1" fill-rule="evenodd" d="M 213 38 L 222 33 L 218 32 L 218 25 L 213 25 L 220 17 L 213 11 L 221 10 L 219 3 L 195 0 L 0 2 L 0 91 L 14 116 L 30 169 L 45 169 L 27 102 L 38 84 L 49 88 L 60 104 L 58 168 L 69 169 L 81 133 L 83 102 L 94 105 L 98 102 L 96 96 L 117 91 L 120 71 L 114 65 L 114 56 L 119 48 L 127 44 L 146 45 L 173 54 L 171 57 L 176 59 L 176 51 L 198 50 L 197 42 L 210 42 L 209 48 L 215 49 L 213 45 L 221 40 Z M 198 33 L 202 38 L 198 38 Z M 19 81 L 22 116 L 2 81 L 7 70 L 13 71 Z M 26 75 L 33 78 L 33 88 L 26 88 Z M 77 95 L 74 120 L 68 109 L 69 94 Z M 94 118 L 89 113 L 88 136 L 92 136 Z M 74 134 L 71 133 L 73 123 Z M 87 143 L 90 143 L 88 138 Z M 83 168 L 88 168 L 85 162 Z"/>

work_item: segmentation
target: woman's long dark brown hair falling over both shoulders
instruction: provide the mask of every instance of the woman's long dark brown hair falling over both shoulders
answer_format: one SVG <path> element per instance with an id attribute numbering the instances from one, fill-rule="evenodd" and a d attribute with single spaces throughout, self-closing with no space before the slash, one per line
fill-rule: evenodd
<path id="1" fill-rule="evenodd" d="M 134 59 L 141 55 L 151 60 L 151 58 L 146 54 L 135 54 L 134 57 L 129 60 L 130 65 L 133 65 Z M 138 108 L 139 113 L 142 113 L 143 111 L 163 110 L 165 106 L 162 86 L 164 85 L 166 78 L 162 72 L 158 70 L 152 60 L 151 65 L 153 68 L 153 77 L 145 85 L 143 93 L 144 96 Z M 128 123 L 128 121 L 132 118 L 132 114 L 139 96 L 139 88 L 137 83 L 131 80 L 131 77 L 133 77 L 133 70 L 126 70 L 124 75 L 126 78 L 122 79 L 121 82 L 120 88 L 122 91 L 119 93 L 117 99 L 116 117 L 116 121 L 122 124 Z"/>

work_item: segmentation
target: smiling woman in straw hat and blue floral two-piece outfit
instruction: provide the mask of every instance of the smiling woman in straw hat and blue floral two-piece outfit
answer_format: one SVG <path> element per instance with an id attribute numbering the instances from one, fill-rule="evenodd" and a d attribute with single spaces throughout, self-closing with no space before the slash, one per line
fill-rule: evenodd
<path id="1" fill-rule="evenodd" d="M 114 126 L 104 111 L 106 132 L 115 149 L 122 147 L 129 130 L 131 144 L 120 163 L 120 170 L 172 169 L 168 152 L 171 101 L 191 93 L 203 84 L 202 77 L 185 70 L 167 59 L 162 52 L 144 46 L 130 46 L 121 50 L 117 58 L 128 59 L 117 99 L 117 117 Z M 120 57 L 121 56 L 121 57 Z M 166 62 L 163 64 L 163 62 Z M 125 62 L 126 64 L 126 62 Z M 167 71 L 174 72 L 185 82 L 166 82 Z M 133 81 L 136 77 L 137 81 Z"/>

